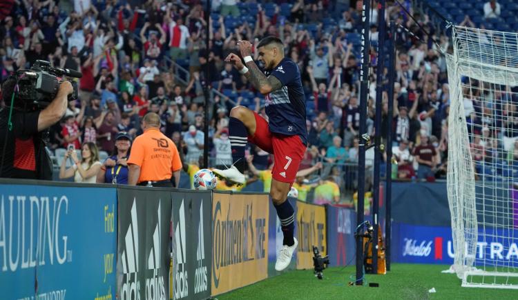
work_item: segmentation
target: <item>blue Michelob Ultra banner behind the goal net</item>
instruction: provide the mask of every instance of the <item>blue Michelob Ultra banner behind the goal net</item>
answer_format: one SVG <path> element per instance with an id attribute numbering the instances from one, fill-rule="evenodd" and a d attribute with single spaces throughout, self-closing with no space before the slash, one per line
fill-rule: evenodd
<path id="1" fill-rule="evenodd" d="M 479 228 L 476 265 L 518 267 L 518 230 Z M 450 227 L 393 223 L 392 261 L 396 263 L 453 263 Z"/>

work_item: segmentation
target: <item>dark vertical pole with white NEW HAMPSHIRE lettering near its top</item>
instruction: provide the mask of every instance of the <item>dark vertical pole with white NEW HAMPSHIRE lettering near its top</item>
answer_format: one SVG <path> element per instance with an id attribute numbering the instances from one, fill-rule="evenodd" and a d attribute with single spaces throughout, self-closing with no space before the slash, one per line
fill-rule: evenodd
<path id="1" fill-rule="evenodd" d="M 367 95 L 369 94 L 369 67 L 370 67 L 370 0 L 363 1 L 362 11 L 363 30 L 361 37 L 362 45 L 362 68 L 360 71 L 360 137 L 358 148 L 358 207 L 356 210 L 356 221 L 358 230 L 363 226 L 363 205 L 365 202 L 365 139 L 363 134 L 367 131 Z M 363 232 L 356 235 L 356 286 L 363 285 Z"/>

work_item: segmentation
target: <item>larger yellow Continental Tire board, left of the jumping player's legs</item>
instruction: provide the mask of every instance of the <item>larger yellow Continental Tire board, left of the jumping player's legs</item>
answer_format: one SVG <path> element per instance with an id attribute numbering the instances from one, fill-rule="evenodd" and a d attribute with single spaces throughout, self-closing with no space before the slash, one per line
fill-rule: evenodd
<path id="1" fill-rule="evenodd" d="M 213 193 L 212 294 L 268 276 L 267 194 Z"/>

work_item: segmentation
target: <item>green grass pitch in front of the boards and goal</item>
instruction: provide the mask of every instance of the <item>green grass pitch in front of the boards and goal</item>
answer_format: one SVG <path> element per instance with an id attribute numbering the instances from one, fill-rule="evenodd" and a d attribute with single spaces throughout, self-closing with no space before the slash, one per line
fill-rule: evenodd
<path id="1" fill-rule="evenodd" d="M 455 274 L 442 274 L 449 266 L 393 264 L 386 275 L 366 275 L 379 288 L 348 286 L 354 266 L 328 268 L 324 279 L 312 270 L 296 270 L 240 288 L 217 299 L 518 299 L 517 290 L 462 288 Z M 429 293 L 435 288 L 437 292 Z"/>

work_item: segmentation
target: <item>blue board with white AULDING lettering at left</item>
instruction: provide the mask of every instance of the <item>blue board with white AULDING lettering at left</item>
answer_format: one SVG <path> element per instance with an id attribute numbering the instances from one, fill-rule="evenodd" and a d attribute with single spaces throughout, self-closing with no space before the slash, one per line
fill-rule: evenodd
<path id="1" fill-rule="evenodd" d="M 115 299 L 115 188 L 0 187 L 2 299 Z"/>

